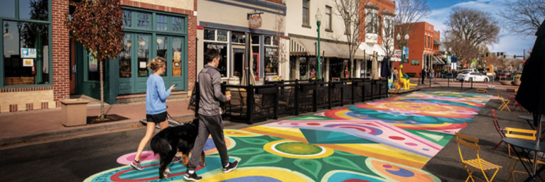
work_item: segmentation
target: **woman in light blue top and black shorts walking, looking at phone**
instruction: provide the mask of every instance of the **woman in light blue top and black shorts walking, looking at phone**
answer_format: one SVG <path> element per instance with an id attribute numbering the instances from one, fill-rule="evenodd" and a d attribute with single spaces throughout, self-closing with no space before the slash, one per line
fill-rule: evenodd
<path id="1" fill-rule="evenodd" d="M 131 166 L 137 170 L 142 170 L 144 167 L 140 165 L 140 154 L 144 151 L 144 148 L 148 144 L 153 132 L 155 132 L 156 124 L 159 124 L 161 129 L 168 127 L 168 120 L 166 119 L 166 98 L 171 95 L 171 92 L 176 88 L 176 85 L 172 85 L 168 90 L 165 90 L 165 82 L 161 75 L 166 71 L 166 60 L 161 57 L 157 57 L 148 63 L 147 68 L 153 70 L 153 74 L 148 77 L 146 82 L 146 135 L 140 141 L 138 149 L 136 149 L 136 156 L 134 161 L 131 162 Z M 173 161 L 180 161 L 181 157 L 175 156 Z"/>

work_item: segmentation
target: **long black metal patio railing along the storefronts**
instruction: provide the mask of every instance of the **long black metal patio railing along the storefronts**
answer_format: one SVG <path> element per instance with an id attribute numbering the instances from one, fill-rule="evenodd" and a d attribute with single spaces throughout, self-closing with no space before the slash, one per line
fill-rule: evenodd
<path id="1" fill-rule="evenodd" d="M 283 80 L 265 85 L 222 85 L 232 98 L 222 104 L 223 117 L 232 122 L 278 119 L 287 115 L 316 112 L 318 109 L 351 105 L 388 97 L 387 80 L 362 78 L 323 80 Z"/>

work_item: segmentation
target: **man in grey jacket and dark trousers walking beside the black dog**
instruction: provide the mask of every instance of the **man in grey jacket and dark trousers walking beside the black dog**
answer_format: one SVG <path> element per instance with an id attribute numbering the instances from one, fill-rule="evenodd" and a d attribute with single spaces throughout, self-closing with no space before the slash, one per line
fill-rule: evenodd
<path id="1" fill-rule="evenodd" d="M 208 135 L 212 134 L 212 140 L 216 145 L 217 152 L 223 166 L 223 173 L 229 173 L 237 168 L 238 161 L 229 162 L 227 155 L 227 146 L 225 146 L 225 137 L 223 136 L 222 116 L 220 113 L 220 101 L 231 100 L 231 95 L 223 95 L 221 92 L 221 74 L 217 70 L 220 64 L 220 50 L 210 48 L 205 53 L 207 65 L 198 75 L 198 86 L 200 88 L 199 102 L 199 134 L 195 139 L 195 146 L 191 152 L 191 159 L 188 164 L 188 172 L 183 178 L 187 181 L 200 181 L 203 179 L 197 176 L 195 168 L 199 165 L 200 154 L 203 152 Z"/>

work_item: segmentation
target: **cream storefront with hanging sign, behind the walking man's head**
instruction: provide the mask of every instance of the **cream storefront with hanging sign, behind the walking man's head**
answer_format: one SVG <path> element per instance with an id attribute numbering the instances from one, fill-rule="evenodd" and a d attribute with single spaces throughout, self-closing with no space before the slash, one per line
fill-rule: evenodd
<path id="1" fill-rule="evenodd" d="M 278 58 L 283 30 L 276 30 L 274 25 L 277 18 L 286 16 L 286 6 L 269 1 L 219 0 L 202 1 L 199 7 L 203 8 L 199 8 L 198 71 L 206 64 L 204 55 L 210 48 L 220 50 L 222 60 L 217 69 L 225 82 L 241 79 L 247 54 L 252 56 L 248 66 L 258 82 L 278 77 L 280 68 L 288 66 Z M 247 42 L 246 36 L 251 41 Z"/>

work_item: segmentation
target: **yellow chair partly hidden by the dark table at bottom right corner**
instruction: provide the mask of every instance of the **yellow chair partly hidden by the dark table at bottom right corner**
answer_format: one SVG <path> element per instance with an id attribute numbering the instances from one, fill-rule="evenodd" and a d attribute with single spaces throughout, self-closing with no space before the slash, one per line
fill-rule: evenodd
<path id="1" fill-rule="evenodd" d="M 505 132 L 507 132 L 505 134 L 505 137 L 508 137 L 508 138 L 528 139 L 528 140 L 531 140 L 531 141 L 536 140 L 536 133 L 537 133 L 536 130 L 505 127 Z M 509 144 L 507 144 L 507 145 L 509 145 Z M 511 161 L 511 163 L 509 165 L 509 166 L 511 166 L 511 174 L 510 174 L 509 178 L 507 178 L 507 181 L 511 181 L 511 179 L 514 181 L 514 173 L 526 173 L 526 171 L 515 171 L 514 170 L 514 168 L 517 166 L 517 164 L 519 162 L 519 158 L 517 156 L 512 156 L 511 155 L 511 146 L 509 146 L 508 151 L 509 151 L 509 158 L 512 159 L 512 161 Z M 528 159 L 523 159 L 523 160 L 528 161 Z M 531 160 L 531 163 L 534 163 L 534 160 Z M 545 164 L 545 162 L 541 161 L 541 160 L 538 160 L 537 164 L 543 165 L 543 164 Z"/>

